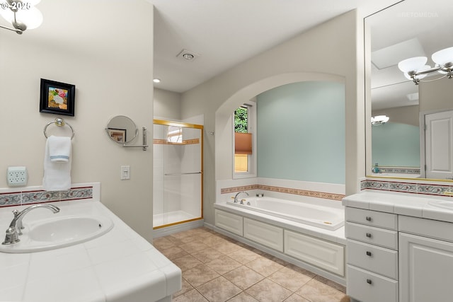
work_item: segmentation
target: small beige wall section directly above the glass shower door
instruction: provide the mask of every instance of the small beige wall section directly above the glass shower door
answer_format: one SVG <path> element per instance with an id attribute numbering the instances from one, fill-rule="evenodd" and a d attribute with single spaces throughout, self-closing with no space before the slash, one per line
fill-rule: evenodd
<path id="1" fill-rule="evenodd" d="M 154 118 L 176 121 L 180 120 L 180 93 L 154 88 Z"/>

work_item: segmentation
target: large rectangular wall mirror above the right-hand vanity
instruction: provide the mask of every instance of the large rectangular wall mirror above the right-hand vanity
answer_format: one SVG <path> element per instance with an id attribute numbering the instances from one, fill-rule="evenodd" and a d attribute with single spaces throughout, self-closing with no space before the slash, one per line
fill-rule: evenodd
<path id="1" fill-rule="evenodd" d="M 427 57 L 426 64 L 434 67 L 432 54 L 453 47 L 453 1 L 401 1 L 365 18 L 365 28 L 369 33 L 369 40 L 365 39 L 365 69 L 371 75 L 367 80 L 367 116 L 389 117 L 380 125 L 366 121 L 365 174 L 452 178 L 452 167 L 446 175 L 433 176 L 429 167 L 425 172 L 425 165 L 431 163 L 425 146 L 425 115 L 453 110 L 453 79 L 435 80 L 442 76 L 436 72 L 415 85 L 398 69 L 398 63 L 411 57 Z M 452 146 L 445 147 L 444 153 L 453 156 Z M 438 161 L 445 164 L 451 159 Z"/>

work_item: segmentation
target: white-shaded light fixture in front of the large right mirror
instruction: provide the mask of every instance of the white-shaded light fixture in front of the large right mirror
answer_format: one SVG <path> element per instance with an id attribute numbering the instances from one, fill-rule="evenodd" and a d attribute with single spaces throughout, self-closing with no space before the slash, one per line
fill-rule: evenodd
<path id="1" fill-rule="evenodd" d="M 452 79 L 453 77 L 453 47 L 445 48 L 444 50 L 439 50 L 431 56 L 432 62 L 435 63 L 435 66 L 426 65 L 428 61 L 427 57 L 413 57 L 410 59 L 405 59 L 398 63 L 398 68 L 403 71 L 404 76 L 407 79 L 412 80 L 415 85 L 418 85 L 420 82 L 430 82 L 437 81 L 448 77 Z M 443 74 L 440 78 L 433 79 L 430 81 L 421 81 L 428 74 L 438 72 Z"/>

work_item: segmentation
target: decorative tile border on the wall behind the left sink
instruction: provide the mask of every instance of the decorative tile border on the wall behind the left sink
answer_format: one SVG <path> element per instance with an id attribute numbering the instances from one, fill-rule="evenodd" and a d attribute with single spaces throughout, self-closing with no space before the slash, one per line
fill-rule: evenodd
<path id="1" fill-rule="evenodd" d="M 21 204 L 40 204 L 43 202 L 62 202 L 68 200 L 93 198 L 93 187 L 72 187 L 66 191 L 33 190 L 0 193 L 0 207 L 20 206 Z"/>

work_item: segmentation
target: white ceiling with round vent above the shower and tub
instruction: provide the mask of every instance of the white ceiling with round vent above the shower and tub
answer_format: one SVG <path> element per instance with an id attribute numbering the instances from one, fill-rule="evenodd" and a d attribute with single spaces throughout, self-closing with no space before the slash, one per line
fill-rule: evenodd
<path id="1" fill-rule="evenodd" d="M 359 8 L 398 0 L 148 0 L 154 11 L 156 88 L 182 93 L 285 40 Z M 199 54 L 192 61 L 181 50 Z"/>

